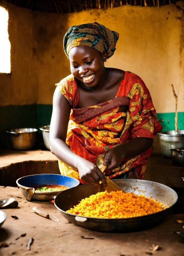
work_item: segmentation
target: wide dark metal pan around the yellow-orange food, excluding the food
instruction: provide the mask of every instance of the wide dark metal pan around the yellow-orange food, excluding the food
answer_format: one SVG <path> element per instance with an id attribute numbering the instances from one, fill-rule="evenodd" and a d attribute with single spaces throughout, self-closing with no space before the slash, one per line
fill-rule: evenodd
<path id="1" fill-rule="evenodd" d="M 163 203 L 169 208 L 161 212 L 133 218 L 85 218 L 75 214 L 66 213 L 73 205 L 77 205 L 82 199 L 105 191 L 102 186 L 83 185 L 70 188 L 58 194 L 54 204 L 60 213 L 70 222 L 81 227 L 101 232 L 133 232 L 151 228 L 159 224 L 171 211 L 172 206 L 177 202 L 177 193 L 160 183 L 136 180 L 136 179 L 114 179 L 118 186 L 126 192 L 133 192 L 136 195 L 144 194 Z"/>

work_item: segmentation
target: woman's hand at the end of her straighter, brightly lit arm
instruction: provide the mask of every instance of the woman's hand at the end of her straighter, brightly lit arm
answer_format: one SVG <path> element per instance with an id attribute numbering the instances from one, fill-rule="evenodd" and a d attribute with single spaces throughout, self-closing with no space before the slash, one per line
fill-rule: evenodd
<path id="1" fill-rule="evenodd" d="M 92 162 L 82 159 L 77 164 L 77 170 L 79 177 L 87 184 L 99 185 L 100 180 L 104 187 L 107 186 L 104 174 L 101 170 Z"/>

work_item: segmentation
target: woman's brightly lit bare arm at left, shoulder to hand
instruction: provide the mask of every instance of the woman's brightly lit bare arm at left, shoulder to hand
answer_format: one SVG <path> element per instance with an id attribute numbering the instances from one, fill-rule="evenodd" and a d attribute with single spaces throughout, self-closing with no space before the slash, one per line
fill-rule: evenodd
<path id="1" fill-rule="evenodd" d="M 106 186 L 104 175 L 98 167 L 94 163 L 74 154 L 65 142 L 70 111 L 71 106 L 68 100 L 63 96 L 59 88 L 56 87 L 49 133 L 50 150 L 65 164 L 77 169 L 80 179 L 86 183 L 99 184 L 101 180 L 103 185 Z"/>

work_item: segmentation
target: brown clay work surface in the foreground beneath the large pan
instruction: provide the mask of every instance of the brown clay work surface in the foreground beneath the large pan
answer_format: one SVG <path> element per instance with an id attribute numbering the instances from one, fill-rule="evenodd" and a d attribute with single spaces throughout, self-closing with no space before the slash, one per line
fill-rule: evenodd
<path id="1" fill-rule="evenodd" d="M 182 231 L 177 219 L 183 214 L 169 215 L 157 227 L 133 233 L 94 232 L 69 223 L 51 202 L 26 201 L 18 188 L 0 187 L 0 200 L 13 197 L 19 201 L 16 209 L 4 209 L 7 218 L 0 229 L 0 242 L 8 247 L 0 249 L 0 255 L 43 255 L 43 256 L 146 256 L 145 252 L 156 256 L 182 256 L 183 244 L 180 235 L 174 230 Z M 33 206 L 55 215 L 60 222 L 40 217 L 31 213 Z M 18 219 L 13 219 L 16 215 Z M 20 237 L 26 233 L 26 236 Z M 83 239 L 81 236 L 93 238 Z M 16 240 L 20 237 L 18 240 Z M 34 238 L 31 249 L 27 250 L 30 237 Z M 160 245 L 161 250 L 151 251 L 152 245 Z M 151 255 L 151 254 L 150 254 Z"/>

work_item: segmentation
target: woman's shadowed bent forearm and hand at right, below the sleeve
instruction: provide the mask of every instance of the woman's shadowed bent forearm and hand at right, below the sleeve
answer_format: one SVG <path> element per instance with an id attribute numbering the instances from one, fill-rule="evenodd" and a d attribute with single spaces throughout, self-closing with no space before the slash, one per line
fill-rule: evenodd
<path id="1" fill-rule="evenodd" d="M 138 156 L 151 148 L 152 145 L 153 139 L 142 137 L 134 138 L 107 150 L 103 164 L 108 166 L 106 170 L 113 170 L 119 167 L 122 159 Z"/>

